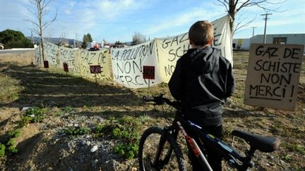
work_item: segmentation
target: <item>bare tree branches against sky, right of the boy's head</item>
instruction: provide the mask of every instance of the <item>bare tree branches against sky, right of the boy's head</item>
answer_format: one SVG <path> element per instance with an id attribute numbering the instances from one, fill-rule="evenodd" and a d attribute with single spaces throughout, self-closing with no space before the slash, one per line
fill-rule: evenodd
<path id="1" fill-rule="evenodd" d="M 234 22 L 236 15 L 239 11 L 241 11 L 242 8 L 247 8 L 251 6 L 257 6 L 258 8 L 263 9 L 264 11 L 274 11 L 274 12 L 280 12 L 277 11 L 279 7 L 275 6 L 275 8 L 269 8 L 269 5 L 277 5 L 282 4 L 282 2 L 273 3 L 270 0 L 217 0 L 218 3 L 216 5 L 218 6 L 225 6 L 227 13 L 231 16 L 232 20 L 230 21 L 230 28 L 232 32 L 232 36 L 234 34 L 234 30 L 238 30 L 241 27 L 245 27 L 246 25 L 249 25 L 253 20 L 246 24 L 242 24 L 241 22 L 237 23 L 237 27 L 234 27 Z M 274 7 L 274 6 L 273 6 Z"/>

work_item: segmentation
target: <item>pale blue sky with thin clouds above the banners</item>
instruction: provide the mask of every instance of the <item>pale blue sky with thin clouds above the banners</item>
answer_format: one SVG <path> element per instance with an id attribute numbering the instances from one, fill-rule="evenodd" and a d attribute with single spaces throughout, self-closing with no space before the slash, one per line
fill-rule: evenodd
<path id="1" fill-rule="evenodd" d="M 242 1 L 242 0 L 240 0 Z M 305 0 L 270 0 L 281 4 L 265 4 L 268 11 L 267 34 L 305 33 Z M 216 0 L 51 0 L 44 22 L 57 18 L 44 30 L 44 37 L 64 37 L 83 40 L 90 33 L 96 42 L 131 42 L 136 32 L 145 38 L 172 37 L 188 32 L 198 20 L 213 21 L 226 15 L 225 6 Z M 0 0 L 0 32 L 6 29 L 23 32 L 26 37 L 37 23 L 35 6 L 29 0 Z M 247 23 L 234 34 L 234 39 L 263 34 L 266 13 L 258 7 L 243 8 L 237 21 Z M 255 27 L 255 28 L 253 28 Z"/>

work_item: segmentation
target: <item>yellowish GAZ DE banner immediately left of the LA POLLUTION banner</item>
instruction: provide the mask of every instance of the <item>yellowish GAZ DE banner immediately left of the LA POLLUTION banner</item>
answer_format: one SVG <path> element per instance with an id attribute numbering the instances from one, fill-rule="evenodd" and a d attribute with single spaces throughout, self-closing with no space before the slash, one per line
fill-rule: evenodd
<path id="1" fill-rule="evenodd" d="M 97 78 L 100 80 L 110 79 L 109 69 L 109 53 L 108 49 L 100 49 L 100 51 L 79 50 L 80 74 L 84 77 Z M 92 75 L 90 65 L 100 65 L 101 72 Z"/>

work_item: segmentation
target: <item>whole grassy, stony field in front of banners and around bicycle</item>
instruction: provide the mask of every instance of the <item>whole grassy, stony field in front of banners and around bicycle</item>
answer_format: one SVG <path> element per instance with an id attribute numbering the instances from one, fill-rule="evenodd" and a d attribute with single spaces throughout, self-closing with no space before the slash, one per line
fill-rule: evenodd
<path id="1" fill-rule="evenodd" d="M 160 107 L 141 101 L 148 89 L 37 68 L 30 65 L 32 56 L 0 55 L 0 169 L 137 170 L 138 137 L 147 127 L 167 123 Z M 253 170 L 305 170 L 304 63 L 290 112 L 243 103 L 248 57 L 234 52 L 237 89 L 223 114 L 225 141 L 244 151 L 246 143 L 229 134 L 233 129 L 279 137 L 277 151 L 256 153 Z M 150 94 L 160 93 L 170 97 L 167 84 L 151 87 Z"/>

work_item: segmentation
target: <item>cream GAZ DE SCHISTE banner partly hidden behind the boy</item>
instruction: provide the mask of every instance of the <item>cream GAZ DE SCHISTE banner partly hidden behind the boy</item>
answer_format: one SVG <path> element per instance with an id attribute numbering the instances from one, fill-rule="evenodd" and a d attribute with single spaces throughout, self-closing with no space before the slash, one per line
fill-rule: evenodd
<path id="1" fill-rule="evenodd" d="M 222 56 L 232 63 L 232 38 L 229 28 L 229 15 L 215 20 L 212 23 L 215 37 L 213 47 L 220 49 Z M 175 37 L 156 39 L 156 42 L 160 75 L 163 82 L 169 82 L 177 60 L 191 48 L 189 45 L 189 33 L 186 32 Z"/>

